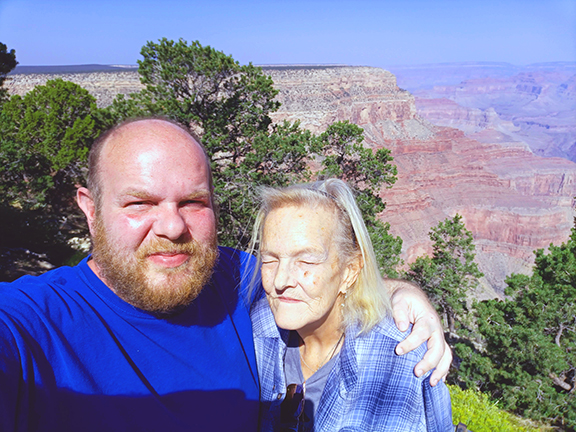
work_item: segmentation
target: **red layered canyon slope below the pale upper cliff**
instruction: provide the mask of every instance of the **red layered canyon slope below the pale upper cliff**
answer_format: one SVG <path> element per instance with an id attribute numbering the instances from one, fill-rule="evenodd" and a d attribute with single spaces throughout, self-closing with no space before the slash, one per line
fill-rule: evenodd
<path id="1" fill-rule="evenodd" d="M 387 147 L 399 179 L 382 193 L 382 217 L 404 240 L 407 262 L 432 251 L 431 226 L 459 213 L 474 235 L 480 269 L 502 293 L 507 275 L 530 270 L 535 249 L 568 238 L 576 164 L 535 156 L 523 145 L 472 140 L 454 129 Z"/>

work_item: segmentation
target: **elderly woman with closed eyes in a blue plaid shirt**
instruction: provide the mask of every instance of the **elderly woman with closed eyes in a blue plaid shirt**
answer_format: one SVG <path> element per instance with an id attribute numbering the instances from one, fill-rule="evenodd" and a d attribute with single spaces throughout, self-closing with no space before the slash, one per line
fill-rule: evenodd
<path id="1" fill-rule="evenodd" d="M 450 396 L 405 338 L 352 192 L 331 179 L 266 189 L 254 227 L 266 298 L 252 308 L 261 430 L 449 431 Z"/>

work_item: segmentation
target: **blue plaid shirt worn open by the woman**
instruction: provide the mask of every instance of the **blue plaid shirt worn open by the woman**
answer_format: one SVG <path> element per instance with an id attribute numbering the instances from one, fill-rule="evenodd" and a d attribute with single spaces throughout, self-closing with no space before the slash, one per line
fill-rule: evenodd
<path id="1" fill-rule="evenodd" d="M 254 345 L 261 385 L 260 430 L 273 431 L 286 394 L 284 355 L 288 332 L 278 329 L 265 298 L 251 311 Z M 425 344 L 398 356 L 394 348 L 407 333 L 391 318 L 369 333 L 356 336 L 348 328 L 340 357 L 322 393 L 314 431 L 454 430 L 450 394 L 444 383 L 430 385 L 429 375 L 417 378 L 414 366 Z"/>

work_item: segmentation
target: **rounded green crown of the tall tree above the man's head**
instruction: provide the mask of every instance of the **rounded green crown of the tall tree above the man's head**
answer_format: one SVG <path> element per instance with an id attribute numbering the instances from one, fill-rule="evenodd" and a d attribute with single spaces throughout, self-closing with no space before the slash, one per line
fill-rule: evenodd
<path id="1" fill-rule="evenodd" d="M 277 91 L 272 79 L 252 64 L 198 41 L 148 42 L 138 61 L 144 90 L 117 98 L 111 112 L 119 118 L 160 114 L 199 127 L 204 145 L 219 159 L 237 162 L 241 145 L 272 123 Z"/>

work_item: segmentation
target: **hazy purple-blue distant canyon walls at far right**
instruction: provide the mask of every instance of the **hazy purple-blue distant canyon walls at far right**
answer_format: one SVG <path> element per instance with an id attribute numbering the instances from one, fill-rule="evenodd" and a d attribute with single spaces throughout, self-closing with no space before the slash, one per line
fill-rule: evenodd
<path id="1" fill-rule="evenodd" d="M 576 161 L 576 64 L 415 91 L 419 115 L 467 133 L 495 129 L 542 156 Z"/>

